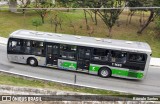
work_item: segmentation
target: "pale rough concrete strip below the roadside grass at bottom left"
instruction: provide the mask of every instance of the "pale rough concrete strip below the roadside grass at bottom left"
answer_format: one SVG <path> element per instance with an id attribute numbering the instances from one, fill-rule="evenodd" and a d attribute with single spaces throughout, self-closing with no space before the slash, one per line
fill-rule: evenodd
<path id="1" fill-rule="evenodd" d="M 87 95 L 87 93 L 77 93 L 71 91 L 61 91 L 56 89 L 35 88 L 35 87 L 22 87 L 11 85 L 0 85 L 1 94 L 24 94 L 24 95 Z"/>

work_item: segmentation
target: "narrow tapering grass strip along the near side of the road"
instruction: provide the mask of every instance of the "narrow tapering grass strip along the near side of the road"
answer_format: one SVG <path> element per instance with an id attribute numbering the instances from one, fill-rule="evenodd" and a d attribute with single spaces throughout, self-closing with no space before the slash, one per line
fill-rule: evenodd
<path id="1" fill-rule="evenodd" d="M 102 95 L 125 95 L 126 94 L 126 93 L 120 93 L 116 91 L 100 90 L 100 89 L 94 89 L 94 88 L 75 87 L 75 86 L 73 87 L 70 85 L 60 84 L 56 82 L 26 79 L 19 76 L 13 76 L 13 75 L 2 74 L 2 73 L 0 73 L 0 84 L 12 85 L 12 86 L 48 88 L 53 90 L 83 92 L 83 93 L 102 94 Z"/>

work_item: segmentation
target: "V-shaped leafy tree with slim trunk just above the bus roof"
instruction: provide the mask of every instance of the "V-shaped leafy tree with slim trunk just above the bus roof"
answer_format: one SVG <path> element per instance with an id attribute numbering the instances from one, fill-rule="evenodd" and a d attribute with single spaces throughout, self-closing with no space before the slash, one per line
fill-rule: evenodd
<path id="1" fill-rule="evenodd" d="M 112 37 L 112 27 L 115 25 L 116 21 L 119 19 L 119 15 L 122 13 L 125 7 L 125 1 L 123 0 L 94 0 L 93 4 L 96 4 L 97 9 L 94 12 L 97 12 L 99 17 L 103 20 L 105 25 L 109 30 L 109 37 Z M 92 5 L 91 7 L 93 7 Z M 104 9 L 103 9 L 104 8 Z M 107 9 L 113 8 L 113 9 Z M 114 9 L 121 8 L 121 9 Z"/>

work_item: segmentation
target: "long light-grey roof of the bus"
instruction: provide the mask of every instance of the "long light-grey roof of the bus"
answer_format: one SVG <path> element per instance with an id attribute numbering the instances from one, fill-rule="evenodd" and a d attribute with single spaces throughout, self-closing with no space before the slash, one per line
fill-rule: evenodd
<path id="1" fill-rule="evenodd" d="M 150 46 L 145 42 L 76 36 L 32 30 L 17 30 L 13 32 L 10 37 L 122 51 L 151 53 Z"/>

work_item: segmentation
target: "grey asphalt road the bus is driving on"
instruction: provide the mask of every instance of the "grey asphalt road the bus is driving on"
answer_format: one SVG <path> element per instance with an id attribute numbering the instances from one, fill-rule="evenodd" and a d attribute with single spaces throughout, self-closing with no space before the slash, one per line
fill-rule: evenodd
<path id="1" fill-rule="evenodd" d="M 31 67 L 23 64 L 8 62 L 6 46 L 0 44 L 0 71 L 16 73 L 50 81 L 74 84 L 76 74 L 76 85 L 114 90 L 141 95 L 160 94 L 160 67 L 150 66 L 148 74 L 144 80 L 127 80 L 122 78 L 101 78 L 95 75 L 63 71 L 45 67 Z"/>

